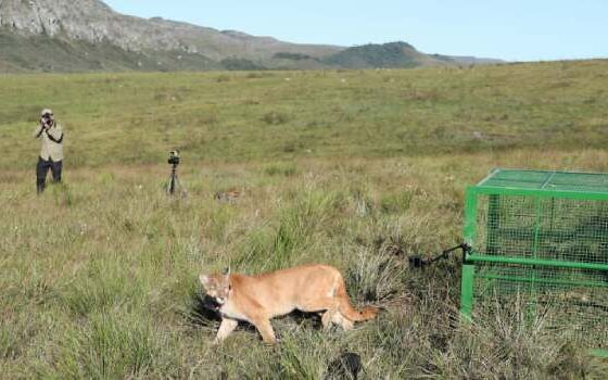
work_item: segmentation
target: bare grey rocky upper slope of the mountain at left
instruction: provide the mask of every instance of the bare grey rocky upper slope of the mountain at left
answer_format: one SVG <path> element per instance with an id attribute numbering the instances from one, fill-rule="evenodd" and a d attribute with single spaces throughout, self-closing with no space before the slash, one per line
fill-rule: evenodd
<path id="1" fill-rule="evenodd" d="M 99 0 L 1 0 L 0 26 L 22 35 L 110 42 L 127 51 L 183 51 L 213 60 L 241 56 L 265 60 L 277 52 L 324 56 L 338 47 L 281 42 L 236 31 L 114 12 Z"/>

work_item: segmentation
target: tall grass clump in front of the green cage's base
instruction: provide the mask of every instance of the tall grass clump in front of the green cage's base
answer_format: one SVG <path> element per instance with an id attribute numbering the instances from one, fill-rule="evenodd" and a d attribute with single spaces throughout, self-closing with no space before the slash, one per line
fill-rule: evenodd
<path id="1" fill-rule="evenodd" d="M 531 316 L 523 303 L 515 301 L 510 306 L 496 302 L 473 322 L 460 324 L 444 353 L 430 357 L 431 372 L 436 377 L 504 379 L 598 375 L 595 369 L 585 369 L 584 351 L 577 349 L 571 331 L 550 326 L 550 308 Z"/>

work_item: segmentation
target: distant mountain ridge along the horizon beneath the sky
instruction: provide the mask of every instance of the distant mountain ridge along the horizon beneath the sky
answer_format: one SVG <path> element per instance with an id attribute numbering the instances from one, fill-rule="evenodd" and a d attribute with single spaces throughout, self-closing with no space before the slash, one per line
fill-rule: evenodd
<path id="1" fill-rule="evenodd" d="M 0 72 L 371 68 L 449 65 L 406 42 L 344 48 L 114 12 L 99 0 L 0 0 Z M 481 61 L 480 61 L 481 62 Z M 467 64 L 477 64 L 469 59 Z M 486 62 L 484 62 L 486 63 Z"/>

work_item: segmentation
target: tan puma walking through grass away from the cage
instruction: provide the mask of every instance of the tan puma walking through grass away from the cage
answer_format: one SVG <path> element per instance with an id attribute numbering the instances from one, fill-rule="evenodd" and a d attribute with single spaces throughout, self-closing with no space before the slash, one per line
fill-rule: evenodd
<path id="1" fill-rule="evenodd" d="M 253 324 L 264 342 L 275 343 L 270 318 L 294 309 L 319 313 L 324 327 L 332 322 L 345 330 L 353 322 L 372 319 L 378 309 L 357 312 L 351 305 L 340 271 L 327 265 L 307 265 L 259 276 L 201 275 L 206 293 L 219 305 L 221 325 L 215 342 L 221 342 L 239 320 Z"/>

